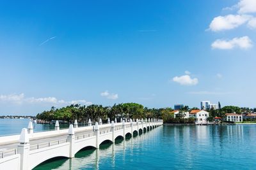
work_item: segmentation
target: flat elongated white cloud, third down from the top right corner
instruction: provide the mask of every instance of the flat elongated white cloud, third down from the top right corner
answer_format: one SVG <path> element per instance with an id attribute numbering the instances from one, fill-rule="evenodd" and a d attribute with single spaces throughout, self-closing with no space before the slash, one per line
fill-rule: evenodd
<path id="1" fill-rule="evenodd" d="M 233 38 L 231 40 L 216 39 L 211 46 L 213 49 L 229 50 L 235 47 L 247 49 L 253 45 L 252 40 L 248 36 L 243 36 L 241 38 Z"/>

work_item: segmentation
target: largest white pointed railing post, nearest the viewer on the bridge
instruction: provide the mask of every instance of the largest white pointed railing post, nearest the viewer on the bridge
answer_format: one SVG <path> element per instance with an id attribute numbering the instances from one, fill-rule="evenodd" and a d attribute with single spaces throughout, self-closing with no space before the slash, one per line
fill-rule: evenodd
<path id="1" fill-rule="evenodd" d="M 29 168 L 29 136 L 28 129 L 23 128 L 20 133 L 19 145 L 17 153 L 20 154 L 20 170 L 28 170 Z"/>

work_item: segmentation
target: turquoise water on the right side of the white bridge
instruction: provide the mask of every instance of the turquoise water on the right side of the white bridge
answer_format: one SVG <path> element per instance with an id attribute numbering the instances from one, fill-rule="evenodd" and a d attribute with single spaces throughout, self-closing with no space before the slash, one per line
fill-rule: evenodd
<path id="1" fill-rule="evenodd" d="M 163 126 L 35 169 L 255 169 L 256 125 Z"/>

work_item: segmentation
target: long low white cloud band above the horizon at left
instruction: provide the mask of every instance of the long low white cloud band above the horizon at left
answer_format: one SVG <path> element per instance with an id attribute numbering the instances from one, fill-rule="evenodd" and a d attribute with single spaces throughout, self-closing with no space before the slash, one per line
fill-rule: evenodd
<path id="1" fill-rule="evenodd" d="M 28 97 L 26 98 L 25 95 L 22 94 L 10 94 L 10 95 L 1 95 L 0 102 L 8 101 L 12 103 L 27 103 L 27 104 L 35 104 L 35 103 L 49 103 L 49 104 L 85 104 L 90 105 L 91 102 L 85 100 L 74 100 L 74 101 L 64 101 L 58 100 L 56 97 Z"/>

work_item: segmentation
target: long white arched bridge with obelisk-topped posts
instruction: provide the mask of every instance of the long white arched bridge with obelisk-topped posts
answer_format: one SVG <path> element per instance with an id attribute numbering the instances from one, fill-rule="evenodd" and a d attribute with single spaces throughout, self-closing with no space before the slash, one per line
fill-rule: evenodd
<path id="1" fill-rule="evenodd" d="M 104 141 L 115 143 L 118 136 L 125 138 L 127 134 L 133 136 L 134 132 L 143 134 L 163 125 L 163 120 L 137 119 L 136 122 L 123 120 L 117 123 L 115 119 L 110 123 L 108 119 L 108 124 L 102 125 L 100 120 L 93 126 L 89 120 L 88 125 L 77 127 L 75 121 L 74 127 L 70 124 L 69 129 L 60 130 L 57 121 L 55 131 L 33 133 L 32 123 L 29 122 L 28 129 L 22 129 L 20 135 L 0 138 L 0 169 L 28 170 L 54 157 L 72 158 L 87 146 L 99 148 Z"/>

